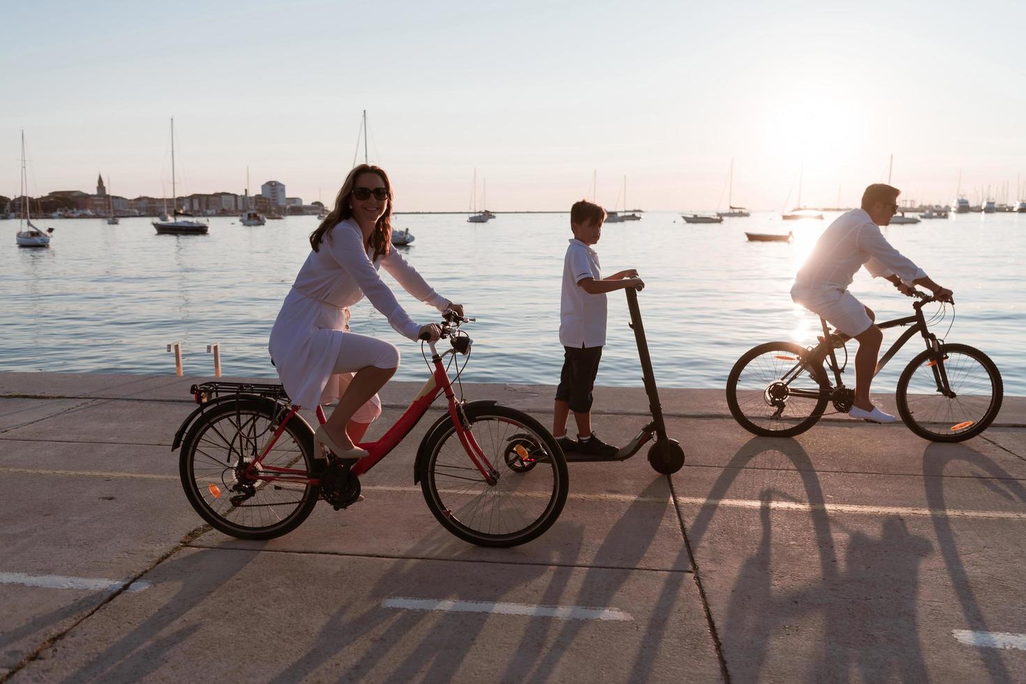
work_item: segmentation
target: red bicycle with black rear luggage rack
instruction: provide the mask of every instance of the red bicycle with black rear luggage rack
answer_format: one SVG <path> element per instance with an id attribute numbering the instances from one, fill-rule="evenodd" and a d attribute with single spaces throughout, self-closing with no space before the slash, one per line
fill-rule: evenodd
<path id="1" fill-rule="evenodd" d="M 409 434 L 439 394 L 448 410 L 417 450 L 413 482 L 435 518 L 455 535 L 485 547 L 513 547 L 545 532 L 566 502 L 563 453 L 536 419 L 495 401 L 457 398 L 456 379 L 472 340 L 460 326 L 474 319 L 447 312 L 442 338 L 431 349 L 431 377 L 395 424 L 360 448 L 368 455 L 339 459 L 314 453 L 313 430 L 280 385 L 204 383 L 191 389 L 200 405 L 174 436 L 182 446 L 186 496 L 214 529 L 244 539 L 269 539 L 295 529 L 321 498 L 339 509 L 360 495 L 360 476 Z M 461 366 L 459 358 L 464 357 Z M 451 357 L 448 364 L 443 359 Z M 427 360 L 427 357 L 425 357 Z M 325 421 L 317 407 L 317 419 Z"/>

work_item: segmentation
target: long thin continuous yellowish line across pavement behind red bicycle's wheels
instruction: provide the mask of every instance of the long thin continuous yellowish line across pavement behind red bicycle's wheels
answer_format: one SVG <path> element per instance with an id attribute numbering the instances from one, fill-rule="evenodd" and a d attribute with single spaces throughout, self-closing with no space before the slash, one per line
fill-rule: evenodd
<path id="1" fill-rule="evenodd" d="M 29 475 L 66 475 L 66 476 L 86 476 L 104 478 L 128 478 L 140 480 L 179 480 L 176 475 L 158 475 L 154 473 L 108 473 L 103 471 L 58 471 L 39 470 L 32 468 L 6 468 L 0 467 L 0 473 L 25 473 Z M 420 494 L 420 487 L 406 487 L 399 485 L 367 485 L 363 487 L 367 491 L 394 491 L 406 494 Z M 443 489 L 442 493 L 462 493 L 456 490 Z M 518 496 L 543 497 L 549 495 L 543 492 L 518 492 Z M 581 494 L 569 493 L 567 498 L 584 501 L 623 501 L 635 504 L 638 501 L 645 504 L 669 504 L 669 496 L 634 496 L 633 494 Z M 747 498 L 702 498 L 699 496 L 678 496 L 678 504 L 688 506 L 712 506 L 727 509 L 759 509 L 763 502 L 756 499 Z M 771 501 L 768 504 L 774 511 L 798 511 L 812 512 L 823 511 L 826 513 L 858 513 L 868 515 L 897 515 L 897 516 L 928 516 L 933 518 L 979 518 L 991 520 L 1026 520 L 1026 513 L 1017 511 L 970 511 L 965 509 L 924 509 L 912 506 L 862 506 L 858 504 L 805 504 L 799 501 Z"/>

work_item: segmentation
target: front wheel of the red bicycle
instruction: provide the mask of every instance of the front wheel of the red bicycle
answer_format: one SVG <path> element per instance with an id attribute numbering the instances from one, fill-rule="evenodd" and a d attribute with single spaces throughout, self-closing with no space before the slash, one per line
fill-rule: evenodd
<path id="1" fill-rule="evenodd" d="M 470 459 L 450 423 L 428 445 L 421 465 L 428 508 L 445 529 L 471 544 L 515 547 L 537 538 L 566 504 L 562 450 L 549 431 L 516 409 L 471 406 L 466 413 L 495 483 Z"/>

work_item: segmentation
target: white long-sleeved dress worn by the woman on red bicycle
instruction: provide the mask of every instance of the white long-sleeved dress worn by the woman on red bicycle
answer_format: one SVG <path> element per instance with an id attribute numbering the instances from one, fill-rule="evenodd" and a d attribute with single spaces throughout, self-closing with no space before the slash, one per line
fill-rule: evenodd
<path id="1" fill-rule="evenodd" d="M 348 307 L 364 294 L 399 334 L 417 340 L 421 326 L 382 282 L 382 266 L 418 299 L 445 310 L 448 300 L 398 250 L 371 261 L 356 222 L 340 223 L 324 234 L 318 251 L 310 251 L 271 329 L 271 358 L 293 404 L 313 408 L 341 396 L 348 377 L 343 380 L 332 371 L 347 334 Z"/>

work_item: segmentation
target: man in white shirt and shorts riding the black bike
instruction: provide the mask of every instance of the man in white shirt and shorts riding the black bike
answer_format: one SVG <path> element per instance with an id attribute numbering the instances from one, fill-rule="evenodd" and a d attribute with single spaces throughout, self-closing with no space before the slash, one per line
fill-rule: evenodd
<path id="1" fill-rule="evenodd" d="M 914 285 L 934 291 L 935 296 L 954 304 L 951 290 L 941 287 L 903 256 L 880 233 L 898 211 L 901 191 L 873 184 L 862 195 L 862 208 L 841 214 L 823 232 L 808 259 L 799 269 L 791 287 L 791 298 L 850 337 L 859 340 L 855 356 L 855 401 L 850 415 L 874 423 L 897 418 L 873 405 L 869 387 L 876 372 L 883 333 L 873 324 L 875 316 L 847 291 L 855 273 L 865 266 L 874 278 L 885 278 L 903 294 Z"/>

